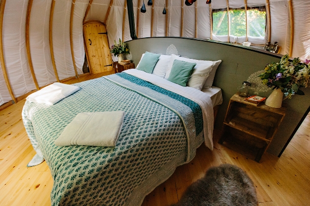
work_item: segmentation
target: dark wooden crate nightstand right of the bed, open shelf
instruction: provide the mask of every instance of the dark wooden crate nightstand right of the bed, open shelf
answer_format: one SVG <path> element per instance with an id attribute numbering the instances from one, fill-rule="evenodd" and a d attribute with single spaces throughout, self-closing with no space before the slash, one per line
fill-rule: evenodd
<path id="1" fill-rule="evenodd" d="M 237 94 L 230 98 L 218 143 L 223 144 L 227 137 L 233 137 L 258 148 L 255 161 L 259 162 L 279 128 L 286 108 L 273 108 L 264 103 L 254 106 L 245 99 Z"/>

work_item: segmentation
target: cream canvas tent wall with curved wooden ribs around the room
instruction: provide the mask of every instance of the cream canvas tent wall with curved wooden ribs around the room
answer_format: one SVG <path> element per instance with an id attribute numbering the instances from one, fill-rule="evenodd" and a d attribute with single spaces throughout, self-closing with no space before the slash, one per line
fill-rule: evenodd
<path id="1" fill-rule="evenodd" d="M 310 58 L 309 0 L 214 0 L 210 5 L 197 0 L 192 6 L 186 6 L 182 0 L 153 0 L 153 6 L 146 6 L 146 13 L 139 11 L 142 2 L 133 0 L 138 38 L 184 36 L 221 41 L 228 38 L 211 36 L 212 9 L 265 5 L 270 7 L 271 18 L 266 32 L 267 35 L 271 32 L 272 42 L 279 42 L 280 53 L 291 51 L 292 57 Z M 82 74 L 83 20 L 104 22 L 110 45 L 119 38 L 130 40 L 125 3 L 125 0 L 1 0 L 0 105 L 35 90 L 36 82 L 42 87 L 57 81 L 57 76 L 62 80 Z M 166 15 L 162 14 L 164 5 Z M 263 43 L 267 41 L 265 37 Z"/>

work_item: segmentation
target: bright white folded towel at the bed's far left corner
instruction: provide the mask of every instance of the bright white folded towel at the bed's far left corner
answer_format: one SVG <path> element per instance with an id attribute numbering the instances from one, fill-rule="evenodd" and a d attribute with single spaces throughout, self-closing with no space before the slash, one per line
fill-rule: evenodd
<path id="1" fill-rule="evenodd" d="M 63 98 L 73 94 L 78 91 L 80 87 L 73 86 L 69 84 L 63 84 L 59 82 L 55 82 L 51 85 L 48 85 L 37 92 L 29 95 L 26 100 L 31 103 L 45 103 L 48 105 L 53 105 L 58 103 Z"/>

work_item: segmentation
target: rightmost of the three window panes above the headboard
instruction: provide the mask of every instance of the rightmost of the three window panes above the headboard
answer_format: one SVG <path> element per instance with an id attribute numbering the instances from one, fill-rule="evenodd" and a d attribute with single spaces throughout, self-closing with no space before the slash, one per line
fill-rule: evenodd
<path id="1" fill-rule="evenodd" d="M 248 35 L 265 37 L 266 8 L 265 6 L 248 7 Z"/>

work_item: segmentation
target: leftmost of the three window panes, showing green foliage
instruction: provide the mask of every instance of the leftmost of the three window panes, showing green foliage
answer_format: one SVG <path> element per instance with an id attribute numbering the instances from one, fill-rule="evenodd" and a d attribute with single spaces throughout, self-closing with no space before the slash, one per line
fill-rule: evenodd
<path id="1" fill-rule="evenodd" d="M 228 18 L 226 9 L 213 10 L 212 21 L 214 35 L 228 35 Z"/>

